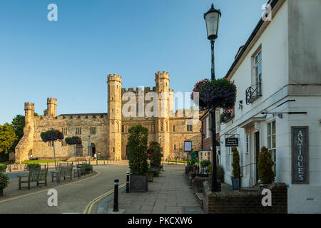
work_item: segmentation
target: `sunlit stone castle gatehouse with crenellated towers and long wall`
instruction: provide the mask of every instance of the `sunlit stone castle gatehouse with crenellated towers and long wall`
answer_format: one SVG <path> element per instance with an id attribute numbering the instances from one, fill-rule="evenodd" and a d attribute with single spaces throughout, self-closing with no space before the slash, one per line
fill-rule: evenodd
<path id="1" fill-rule="evenodd" d="M 192 141 L 193 150 L 200 149 L 200 120 L 184 111 L 173 112 L 174 90 L 169 88 L 170 78 L 168 72 L 156 73 L 156 86 L 152 89 L 145 88 L 121 88 L 121 76 L 108 75 L 108 112 L 107 113 L 85 113 L 85 114 L 61 114 L 57 115 L 57 99 L 47 99 L 47 109 L 44 110 L 44 117 L 34 116 L 34 103 L 25 103 L 24 137 L 16 146 L 16 162 L 28 160 L 30 155 L 41 159 L 52 159 L 54 157 L 53 146 L 42 142 L 40 134 L 49 129 L 61 130 L 63 135 L 71 137 L 77 135 L 82 140 L 82 145 L 76 147 L 76 155 L 84 157 L 91 152 L 91 155 L 100 154 L 103 159 L 128 159 L 126 150 L 128 128 L 133 125 L 143 125 L 148 128 L 148 143 L 156 141 L 161 143 L 163 159 L 171 157 L 185 157 L 183 143 L 185 140 Z M 128 116 L 122 115 L 123 106 L 127 99 L 123 98 L 126 93 L 148 95 L 154 92 L 159 94 L 158 112 L 161 115 L 148 117 L 146 115 Z M 169 94 L 167 101 L 161 95 L 162 92 Z M 165 100 L 165 102 L 164 102 Z M 143 108 L 146 108 L 146 101 Z M 128 104 L 127 104 L 128 105 Z M 138 107 L 137 105 L 137 113 Z M 127 106 L 126 106 L 127 107 Z M 165 113 L 165 115 L 164 115 Z M 201 113 L 200 113 L 201 114 Z M 199 116 L 198 116 L 199 117 Z M 89 136 L 90 135 L 90 136 Z M 88 142 L 91 142 L 91 147 Z M 75 156 L 74 148 L 66 145 L 66 142 L 56 141 L 55 151 L 57 159 L 68 159 Z"/>

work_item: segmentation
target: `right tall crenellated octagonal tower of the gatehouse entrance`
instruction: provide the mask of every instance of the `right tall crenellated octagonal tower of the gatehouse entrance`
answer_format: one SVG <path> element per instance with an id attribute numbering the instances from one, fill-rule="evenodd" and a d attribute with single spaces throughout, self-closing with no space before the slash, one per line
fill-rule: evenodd
<path id="1" fill-rule="evenodd" d="M 169 73 L 158 71 L 155 74 L 156 92 L 158 93 L 158 118 L 156 118 L 156 140 L 161 141 L 163 159 L 168 158 L 170 145 L 170 89 Z"/>

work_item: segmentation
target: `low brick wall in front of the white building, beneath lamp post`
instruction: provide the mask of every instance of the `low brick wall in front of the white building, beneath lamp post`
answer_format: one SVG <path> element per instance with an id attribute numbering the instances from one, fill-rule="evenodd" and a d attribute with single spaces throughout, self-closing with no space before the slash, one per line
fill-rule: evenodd
<path id="1" fill-rule="evenodd" d="M 203 182 L 203 210 L 207 214 L 259 213 L 286 214 L 287 186 L 275 183 L 266 187 L 272 193 L 272 206 L 264 207 L 261 192 L 210 192 L 208 182 Z"/>

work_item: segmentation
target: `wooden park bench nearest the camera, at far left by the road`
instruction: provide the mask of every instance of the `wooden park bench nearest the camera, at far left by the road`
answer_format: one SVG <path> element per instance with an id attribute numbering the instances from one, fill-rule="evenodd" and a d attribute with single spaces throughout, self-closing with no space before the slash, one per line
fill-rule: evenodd
<path id="1" fill-rule="evenodd" d="M 47 186 L 47 174 L 48 174 L 48 169 L 44 169 L 44 170 L 32 169 L 29 171 L 29 175 L 18 175 L 17 177 L 19 177 L 19 190 L 21 190 L 21 184 L 28 184 L 28 189 L 30 190 L 31 182 L 37 182 L 37 186 L 39 186 L 39 184 L 44 184 Z M 44 181 L 44 183 L 40 183 L 40 181 Z"/>

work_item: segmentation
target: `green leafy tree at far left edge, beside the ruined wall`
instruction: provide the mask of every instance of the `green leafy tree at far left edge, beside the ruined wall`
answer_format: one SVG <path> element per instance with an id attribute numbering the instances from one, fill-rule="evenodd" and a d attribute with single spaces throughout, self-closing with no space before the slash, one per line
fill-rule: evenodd
<path id="1" fill-rule="evenodd" d="M 0 125 L 0 153 L 8 154 L 16 140 L 16 133 L 9 123 Z"/>

